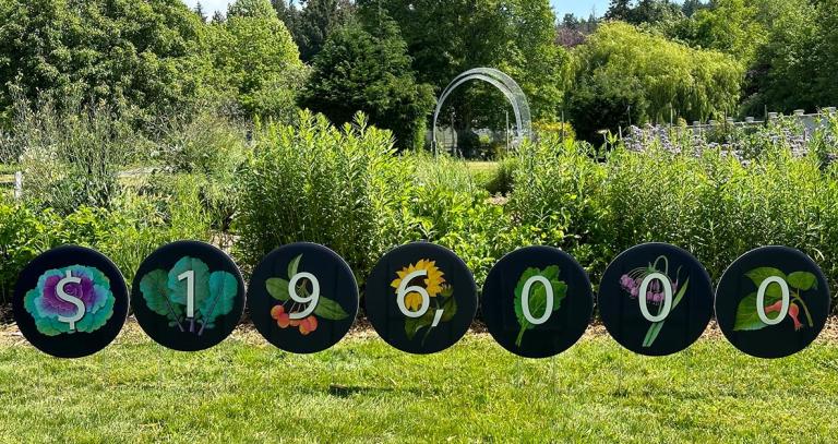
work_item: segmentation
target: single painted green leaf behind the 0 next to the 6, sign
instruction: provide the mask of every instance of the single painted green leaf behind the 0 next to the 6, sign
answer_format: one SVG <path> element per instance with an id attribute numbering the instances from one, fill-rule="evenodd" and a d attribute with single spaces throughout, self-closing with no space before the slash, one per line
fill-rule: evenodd
<path id="1" fill-rule="evenodd" d="M 530 323 L 524 315 L 524 286 L 532 277 L 541 276 L 550 281 L 550 287 L 553 293 L 552 311 L 556 312 L 562 307 L 562 300 L 567 296 L 567 284 L 559 279 L 559 266 L 550 265 L 544 269 L 538 269 L 535 267 L 527 268 L 518 279 L 518 284 L 515 286 L 515 316 L 518 320 L 520 331 L 518 337 L 515 340 L 515 345 L 520 347 L 520 343 L 524 339 L 524 333 L 528 329 L 532 329 L 536 326 Z M 529 312 L 535 316 L 540 316 L 547 310 L 547 287 L 541 284 L 535 284 L 529 287 L 528 308 Z"/>

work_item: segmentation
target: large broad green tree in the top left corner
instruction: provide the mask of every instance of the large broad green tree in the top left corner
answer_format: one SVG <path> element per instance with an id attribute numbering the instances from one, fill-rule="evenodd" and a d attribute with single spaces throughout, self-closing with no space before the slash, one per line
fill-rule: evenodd
<path id="1" fill-rule="evenodd" d="M 206 93 L 203 27 L 180 0 L 0 2 L 0 115 L 11 89 L 81 96 L 137 118 L 180 109 Z"/>

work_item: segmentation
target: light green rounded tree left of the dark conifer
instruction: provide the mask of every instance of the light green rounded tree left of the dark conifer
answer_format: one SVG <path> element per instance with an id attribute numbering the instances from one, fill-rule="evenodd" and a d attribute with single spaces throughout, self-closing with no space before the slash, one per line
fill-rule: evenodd
<path id="1" fill-rule="evenodd" d="M 215 83 L 250 117 L 292 119 L 306 70 L 268 0 L 238 0 L 212 25 Z"/>

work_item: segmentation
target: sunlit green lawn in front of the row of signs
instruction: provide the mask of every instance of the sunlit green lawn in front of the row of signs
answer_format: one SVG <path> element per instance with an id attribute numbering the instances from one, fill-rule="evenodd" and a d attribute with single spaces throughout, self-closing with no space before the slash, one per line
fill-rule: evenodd
<path id="1" fill-rule="evenodd" d="M 129 328 L 59 360 L 5 333 L 2 442 L 835 442 L 838 343 L 786 360 L 720 338 L 642 358 L 591 335 L 558 358 L 516 358 L 486 335 L 409 356 L 374 335 L 314 356 L 238 332 L 205 352 Z"/>

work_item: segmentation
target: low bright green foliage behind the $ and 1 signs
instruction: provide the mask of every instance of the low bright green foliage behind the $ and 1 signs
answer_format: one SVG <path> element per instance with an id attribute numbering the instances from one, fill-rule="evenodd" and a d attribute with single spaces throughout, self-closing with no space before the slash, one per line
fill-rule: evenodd
<path id="1" fill-rule="evenodd" d="M 0 201 L 0 303 L 10 300 L 20 271 L 50 248 L 79 244 L 96 249 L 131 281 L 140 263 L 163 244 L 182 239 L 210 241 L 197 191 L 184 177 L 165 199 L 127 192 L 109 209 L 80 206 L 65 215 Z"/>

